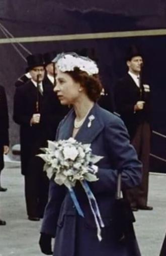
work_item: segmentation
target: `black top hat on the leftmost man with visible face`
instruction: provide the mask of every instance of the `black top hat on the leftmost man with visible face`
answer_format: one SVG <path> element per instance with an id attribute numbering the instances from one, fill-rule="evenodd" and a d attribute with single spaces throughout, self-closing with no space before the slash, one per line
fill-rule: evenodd
<path id="1" fill-rule="evenodd" d="M 26 68 L 26 72 L 33 69 L 34 67 L 45 65 L 42 54 L 29 55 L 26 59 L 28 64 L 28 67 Z"/>

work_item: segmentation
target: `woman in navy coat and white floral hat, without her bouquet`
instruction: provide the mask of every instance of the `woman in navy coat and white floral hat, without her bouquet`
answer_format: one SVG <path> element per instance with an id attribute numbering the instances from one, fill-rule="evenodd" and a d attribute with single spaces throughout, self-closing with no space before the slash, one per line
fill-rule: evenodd
<path id="1" fill-rule="evenodd" d="M 55 237 L 54 256 L 140 256 L 135 237 L 128 241 L 125 236 L 116 236 L 113 217 L 118 173 L 122 174 L 122 189 L 135 187 L 141 181 L 141 164 L 124 123 L 96 103 L 102 84 L 94 61 L 76 54 L 62 54 L 55 61 L 54 91 L 61 104 L 73 107 L 61 121 L 56 140 L 74 137 L 83 144 L 91 143 L 92 152 L 104 156 L 98 162 L 99 180 L 89 186 L 105 227 L 99 241 L 87 196 L 79 184 L 74 191 L 85 218 L 78 216 L 67 189 L 51 180 L 39 241 L 41 250 L 52 254 L 51 238 Z"/>

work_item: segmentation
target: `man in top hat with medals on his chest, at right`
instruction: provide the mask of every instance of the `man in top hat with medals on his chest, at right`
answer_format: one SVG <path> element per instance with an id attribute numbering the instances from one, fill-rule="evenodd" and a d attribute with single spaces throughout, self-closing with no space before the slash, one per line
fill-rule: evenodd
<path id="1" fill-rule="evenodd" d="M 148 172 L 150 153 L 150 87 L 143 82 L 142 54 L 135 46 L 129 48 L 126 64 L 128 73 L 115 86 L 116 111 L 123 119 L 135 147 L 138 158 L 142 161 L 142 183 L 139 187 L 124 194 L 133 210 L 152 210 L 147 206 Z"/>

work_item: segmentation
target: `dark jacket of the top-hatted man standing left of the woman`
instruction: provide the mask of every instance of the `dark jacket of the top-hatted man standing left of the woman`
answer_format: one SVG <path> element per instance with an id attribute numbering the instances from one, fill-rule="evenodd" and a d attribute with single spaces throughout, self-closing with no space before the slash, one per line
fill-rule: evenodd
<path id="1" fill-rule="evenodd" d="M 37 88 L 32 81 L 18 87 L 14 96 L 14 121 L 20 124 L 22 174 L 29 171 L 31 158 L 47 140 L 55 139 L 55 108 L 49 84 L 43 83 L 44 94 L 39 94 L 39 124 L 30 125 L 31 117 L 36 113 Z"/>

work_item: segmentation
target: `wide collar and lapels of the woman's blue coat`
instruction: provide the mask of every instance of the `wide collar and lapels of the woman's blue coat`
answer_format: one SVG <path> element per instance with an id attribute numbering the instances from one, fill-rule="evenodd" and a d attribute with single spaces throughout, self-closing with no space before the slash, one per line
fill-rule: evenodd
<path id="1" fill-rule="evenodd" d="M 89 115 L 87 116 L 86 120 L 80 127 L 78 133 L 75 136 L 75 140 L 80 141 L 84 144 L 92 143 L 94 139 L 98 136 L 98 134 L 103 130 L 104 123 L 101 119 L 101 111 L 100 106 L 95 104 L 94 107 L 91 109 Z M 90 116 L 94 116 L 94 120 L 91 122 L 91 126 L 88 127 L 88 123 L 90 123 Z M 72 136 L 73 131 L 73 122 L 75 118 L 75 113 L 73 109 L 68 113 L 65 117 L 62 125 L 60 126 L 60 131 L 58 135 L 58 140 L 67 140 L 69 137 Z"/>

